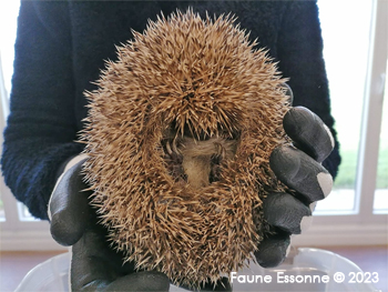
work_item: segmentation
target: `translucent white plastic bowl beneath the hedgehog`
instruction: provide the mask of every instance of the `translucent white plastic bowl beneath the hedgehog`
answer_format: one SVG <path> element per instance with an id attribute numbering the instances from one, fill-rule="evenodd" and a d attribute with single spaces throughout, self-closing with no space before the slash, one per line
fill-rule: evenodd
<path id="1" fill-rule="evenodd" d="M 70 253 L 49 259 L 33 268 L 16 292 L 69 291 L 69 264 Z M 345 275 L 343 282 L 338 281 L 338 273 Z M 358 278 L 354 278 L 355 283 L 350 283 L 353 274 L 358 274 Z M 233 275 L 233 291 L 376 291 L 372 283 L 368 283 L 372 278 L 367 281 L 367 276 L 364 276 L 364 272 L 355 263 L 336 253 L 318 249 L 298 249 L 292 263 L 284 263 L 276 269 L 263 269 L 252 263 L 249 268 Z M 186 290 L 171 285 L 170 291 Z"/>

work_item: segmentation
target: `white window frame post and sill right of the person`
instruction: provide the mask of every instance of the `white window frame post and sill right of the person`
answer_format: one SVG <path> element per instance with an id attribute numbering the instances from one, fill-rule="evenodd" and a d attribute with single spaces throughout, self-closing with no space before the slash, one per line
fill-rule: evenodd
<path id="1" fill-rule="evenodd" d="M 343 215 L 315 217 L 312 228 L 303 235 L 293 239 L 295 245 L 374 245 L 388 243 L 388 215 L 374 213 L 388 58 L 387 19 L 388 2 L 375 0 L 372 3 L 368 72 L 355 189 L 355 212 Z"/>

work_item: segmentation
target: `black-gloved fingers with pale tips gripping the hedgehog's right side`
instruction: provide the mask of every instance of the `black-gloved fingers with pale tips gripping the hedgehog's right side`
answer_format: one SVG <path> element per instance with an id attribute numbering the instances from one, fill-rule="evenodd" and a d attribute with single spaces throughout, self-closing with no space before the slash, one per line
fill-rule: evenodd
<path id="1" fill-rule="evenodd" d="M 289 235 L 300 233 L 302 221 L 312 215 L 315 202 L 325 199 L 333 187 L 331 175 L 321 165 L 334 148 L 329 129 L 303 107 L 292 108 L 284 117 L 283 127 L 294 147 L 277 147 L 269 165 L 278 180 L 295 193 L 272 193 L 263 202 L 264 218 L 278 231 L 264 239 L 255 252 L 264 268 L 284 261 Z"/>

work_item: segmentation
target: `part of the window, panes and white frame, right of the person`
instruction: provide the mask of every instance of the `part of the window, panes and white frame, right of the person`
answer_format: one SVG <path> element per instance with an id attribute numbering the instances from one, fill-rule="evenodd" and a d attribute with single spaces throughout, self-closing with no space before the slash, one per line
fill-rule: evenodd
<path id="1" fill-rule="evenodd" d="M 333 99 L 333 113 L 337 119 L 339 142 L 345 144 L 345 148 L 341 149 L 344 164 L 339 172 L 345 173 L 339 173 L 339 180 L 336 181 L 334 192 L 317 208 L 315 214 L 319 217 L 315 217 L 315 223 L 310 230 L 304 236 L 297 236 L 294 243 L 387 244 L 387 187 L 381 183 L 381 187 L 379 187 L 378 183 L 381 181 L 379 178 L 387 178 L 386 169 L 384 169 L 384 165 L 386 165 L 384 164 L 384 151 L 387 148 L 387 142 L 382 132 L 380 135 L 380 125 L 384 115 L 382 100 L 387 70 L 388 2 L 382 0 L 336 1 L 335 7 L 329 7 L 330 4 L 330 1 L 318 1 L 325 47 L 329 46 L 326 42 L 328 41 L 327 38 L 334 38 L 327 34 L 325 37 L 325 21 L 336 22 L 336 19 L 338 20 L 335 24 L 337 28 L 330 32 L 330 34 L 338 32 L 337 39 L 334 38 L 334 44 L 338 47 L 337 52 L 340 56 L 334 69 L 337 72 L 333 73 L 333 70 L 330 70 L 330 57 L 326 54 L 325 57 Z M 326 17 L 325 9 L 327 9 Z M 339 21 L 339 19 L 341 20 Z M 370 24 L 365 22 L 365 19 L 370 19 Z M 354 23 L 343 30 L 351 20 Z M 364 23 L 364 26 L 358 27 L 358 22 Z M 365 23 L 367 23 L 367 28 L 365 28 Z M 356 28 L 355 32 L 351 32 L 353 28 Z M 341 46 L 345 46 L 341 40 L 347 38 L 348 34 L 353 36 L 348 40 L 351 46 L 348 46 L 346 51 L 341 51 Z M 347 58 L 351 56 L 354 50 L 359 50 L 358 47 L 363 48 L 364 43 L 368 44 L 367 59 L 365 60 L 361 54 L 357 54 L 347 63 Z M 354 74 L 353 71 L 364 72 L 365 78 L 346 80 L 344 75 Z M 338 84 L 341 84 L 343 94 L 345 95 L 337 95 L 340 92 L 335 88 L 337 81 L 340 81 Z M 359 87 L 360 83 L 364 88 Z M 357 93 L 355 93 L 354 88 L 358 88 Z M 355 98 L 354 94 L 359 95 L 359 92 L 363 94 L 361 99 Z M 337 98 L 345 98 L 348 103 L 336 109 Z M 355 111 L 358 111 L 357 115 L 354 115 Z M 387 114 L 386 110 L 384 112 Z M 344 128 L 340 125 L 341 119 L 347 121 L 346 123 L 344 121 Z M 386 123 L 386 120 L 382 122 Z M 351 143 L 346 145 L 348 143 L 346 135 L 350 135 L 354 131 L 358 131 L 355 134 L 358 140 L 353 140 L 356 148 L 351 149 Z M 382 138 L 380 141 L 380 161 L 382 164 L 378 168 L 380 137 Z M 345 153 L 349 150 L 354 152 Z M 351 172 L 353 174 L 349 178 L 354 178 L 353 180 L 340 179 Z M 382 181 L 387 182 L 387 179 L 382 179 Z M 376 188 L 378 189 L 375 199 Z"/>

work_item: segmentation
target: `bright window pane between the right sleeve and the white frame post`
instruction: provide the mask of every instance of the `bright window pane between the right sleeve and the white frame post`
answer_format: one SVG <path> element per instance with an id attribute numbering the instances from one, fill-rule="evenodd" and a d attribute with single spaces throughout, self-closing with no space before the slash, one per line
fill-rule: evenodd
<path id="1" fill-rule="evenodd" d="M 331 112 L 343 162 L 331 194 L 318 203 L 316 214 L 355 212 L 371 4 L 372 1 L 318 1 Z"/>

